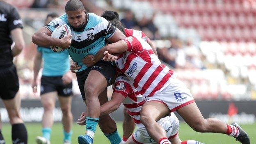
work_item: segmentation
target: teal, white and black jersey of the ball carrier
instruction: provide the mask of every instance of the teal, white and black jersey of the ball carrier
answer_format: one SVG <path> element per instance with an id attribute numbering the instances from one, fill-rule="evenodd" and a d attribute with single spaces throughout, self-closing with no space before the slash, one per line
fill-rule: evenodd
<path id="1" fill-rule="evenodd" d="M 97 16 L 94 13 L 86 14 L 86 24 L 80 31 L 73 30 L 68 23 L 66 14 L 63 14 L 59 18 L 55 18 L 45 26 L 48 30 L 53 32 L 59 25 L 69 25 L 72 31 L 72 42 L 68 51 L 71 59 L 82 66 L 82 68 L 79 69 L 79 72 L 87 69 L 87 66 L 82 64 L 82 59 L 86 55 L 95 55 L 98 50 L 106 45 L 105 39 L 110 39 L 117 30 L 116 27 L 109 23 L 105 18 Z"/>

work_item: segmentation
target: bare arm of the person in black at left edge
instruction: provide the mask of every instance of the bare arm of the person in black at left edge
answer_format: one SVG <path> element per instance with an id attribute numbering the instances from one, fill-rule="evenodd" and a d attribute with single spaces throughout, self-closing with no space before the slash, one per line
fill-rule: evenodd
<path id="1" fill-rule="evenodd" d="M 22 29 L 16 28 L 14 30 L 11 30 L 11 36 L 15 43 L 14 48 L 12 49 L 11 53 L 12 53 L 13 57 L 15 57 L 18 54 L 20 54 L 22 49 L 25 47 Z"/>

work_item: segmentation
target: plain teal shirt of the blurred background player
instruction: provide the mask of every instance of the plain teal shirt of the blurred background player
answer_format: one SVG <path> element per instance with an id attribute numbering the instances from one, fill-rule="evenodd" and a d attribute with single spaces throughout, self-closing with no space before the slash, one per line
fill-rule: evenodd
<path id="1" fill-rule="evenodd" d="M 70 69 L 69 53 L 63 50 L 59 53 L 53 52 L 50 47 L 38 46 L 37 51 L 43 57 L 44 76 L 62 76 Z"/>

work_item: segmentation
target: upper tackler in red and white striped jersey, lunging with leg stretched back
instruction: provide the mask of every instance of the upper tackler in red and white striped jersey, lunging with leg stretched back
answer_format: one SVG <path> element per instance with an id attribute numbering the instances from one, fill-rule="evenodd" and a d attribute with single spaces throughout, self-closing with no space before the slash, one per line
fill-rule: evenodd
<path id="1" fill-rule="evenodd" d="M 116 27 L 123 29 L 119 25 Z M 176 110 L 198 132 L 223 133 L 235 137 L 242 144 L 250 144 L 249 136 L 237 123 L 229 125 L 215 118 L 204 119 L 190 90 L 175 78 L 173 71 L 160 63 L 142 38 L 131 36 L 111 43 L 95 56 L 87 55 L 85 64 L 91 66 L 102 58 L 114 60 L 111 54 L 117 53 L 122 53 L 116 61 L 119 70 L 128 77 L 139 94 L 146 96 L 140 121 L 155 142 L 170 144 L 165 130 L 156 121 Z"/>

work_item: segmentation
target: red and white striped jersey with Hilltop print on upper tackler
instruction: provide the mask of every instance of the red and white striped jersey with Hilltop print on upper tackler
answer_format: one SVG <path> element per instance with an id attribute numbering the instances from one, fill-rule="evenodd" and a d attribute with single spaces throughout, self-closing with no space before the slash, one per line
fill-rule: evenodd
<path id="1" fill-rule="evenodd" d="M 133 86 L 143 96 L 153 96 L 160 93 L 171 83 L 174 71 L 161 64 L 158 57 L 144 39 L 127 37 L 128 49 L 119 55 L 116 65 L 121 73 L 133 83 Z"/>

